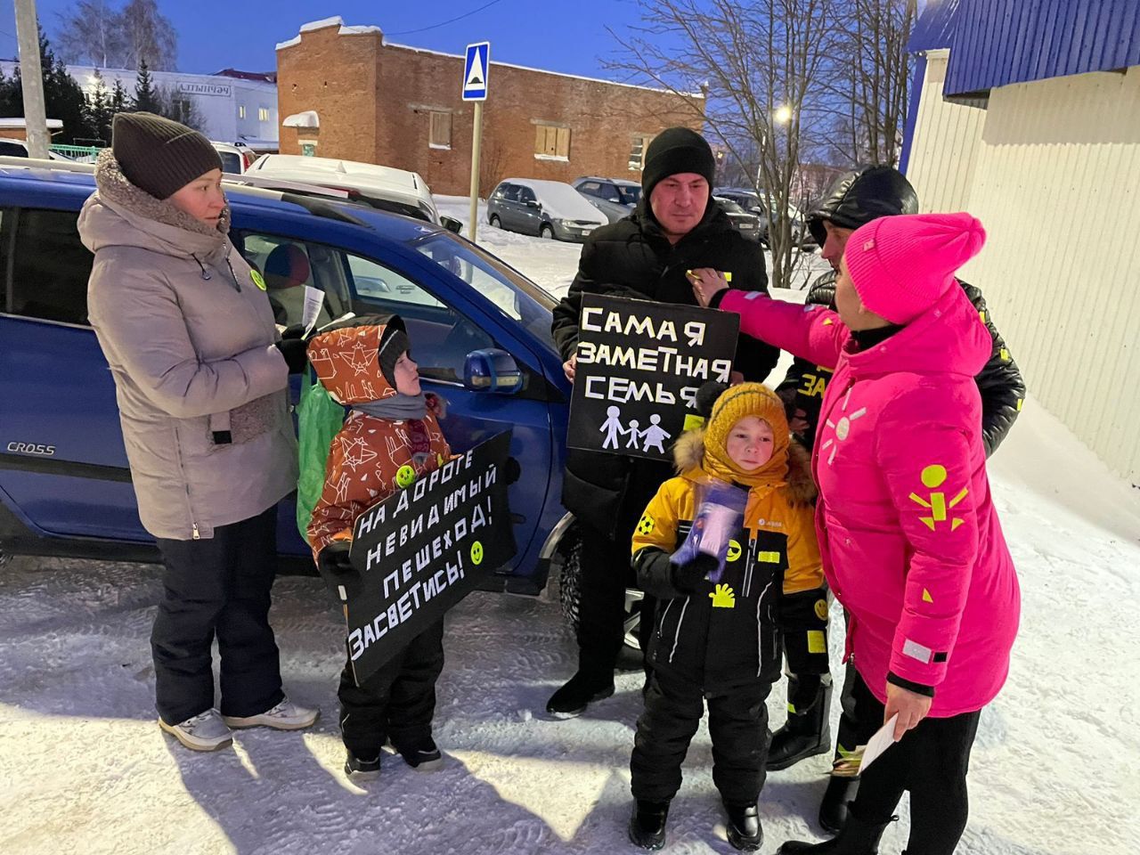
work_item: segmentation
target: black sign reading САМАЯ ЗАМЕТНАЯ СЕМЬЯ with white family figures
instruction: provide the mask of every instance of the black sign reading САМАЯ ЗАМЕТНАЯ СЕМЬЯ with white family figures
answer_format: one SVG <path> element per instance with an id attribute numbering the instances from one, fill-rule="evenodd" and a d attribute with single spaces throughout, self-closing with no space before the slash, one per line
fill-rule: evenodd
<path id="1" fill-rule="evenodd" d="M 668 459 L 701 424 L 697 390 L 728 382 L 739 333 L 731 312 L 583 294 L 567 445 Z"/>

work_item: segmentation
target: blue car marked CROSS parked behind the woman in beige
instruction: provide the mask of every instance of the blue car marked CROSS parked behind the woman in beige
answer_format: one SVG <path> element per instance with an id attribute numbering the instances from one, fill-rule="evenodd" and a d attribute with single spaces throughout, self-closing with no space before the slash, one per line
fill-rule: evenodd
<path id="1" fill-rule="evenodd" d="M 87 319 L 92 255 L 75 222 L 93 177 L 40 163 L 0 163 L 0 553 L 156 561 L 114 381 Z M 278 323 L 300 321 L 303 285 L 325 292 L 318 323 L 398 314 L 425 390 L 448 401 L 453 447 L 513 429 L 519 551 L 487 587 L 540 592 L 572 529 L 560 503 L 570 390 L 551 339 L 554 299 L 431 222 L 292 192 L 227 195 L 230 235 L 267 272 Z M 467 360 L 473 351 L 483 352 Z M 521 388 L 494 388 L 489 364 L 498 375 L 521 372 Z M 311 569 L 291 502 L 280 506 L 278 544 L 283 564 Z"/>

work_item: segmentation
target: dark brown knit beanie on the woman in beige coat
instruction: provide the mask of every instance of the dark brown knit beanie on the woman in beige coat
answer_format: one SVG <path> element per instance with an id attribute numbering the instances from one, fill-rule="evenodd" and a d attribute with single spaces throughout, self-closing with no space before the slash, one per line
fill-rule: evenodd
<path id="1" fill-rule="evenodd" d="M 111 148 L 127 180 L 155 198 L 170 198 L 195 178 L 221 169 L 210 140 L 154 113 L 116 113 Z"/>

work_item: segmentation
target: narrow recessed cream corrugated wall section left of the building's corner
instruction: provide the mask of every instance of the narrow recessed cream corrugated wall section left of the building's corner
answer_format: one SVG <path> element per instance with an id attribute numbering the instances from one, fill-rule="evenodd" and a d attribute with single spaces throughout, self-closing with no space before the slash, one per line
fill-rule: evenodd
<path id="1" fill-rule="evenodd" d="M 910 140 L 906 178 L 919 194 L 926 211 L 966 211 L 969 209 L 974 166 L 986 112 L 962 107 L 942 98 L 950 51 L 927 54 L 922 99 Z"/>

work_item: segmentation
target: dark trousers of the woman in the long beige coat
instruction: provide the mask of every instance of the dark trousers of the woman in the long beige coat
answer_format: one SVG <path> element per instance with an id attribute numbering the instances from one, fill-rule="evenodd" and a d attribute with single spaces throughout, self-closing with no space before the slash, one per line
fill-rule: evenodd
<path id="1" fill-rule="evenodd" d="M 165 588 L 150 633 L 158 715 L 178 724 L 214 706 L 211 645 L 221 656 L 222 715 L 278 703 L 280 665 L 269 627 L 277 572 L 277 507 L 202 540 L 158 538 Z"/>

